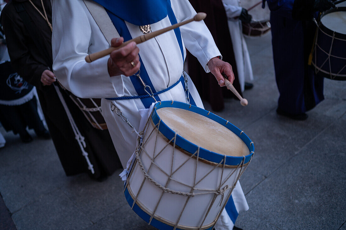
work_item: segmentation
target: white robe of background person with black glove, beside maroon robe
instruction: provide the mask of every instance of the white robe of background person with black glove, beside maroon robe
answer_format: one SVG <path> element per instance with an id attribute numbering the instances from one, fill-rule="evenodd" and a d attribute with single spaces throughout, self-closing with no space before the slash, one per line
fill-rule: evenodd
<path id="1" fill-rule="evenodd" d="M 240 7 L 239 0 L 222 0 L 222 3 L 224 4 L 228 18 L 228 28 L 236 59 L 240 89 L 243 92 L 245 82 L 249 82 L 254 79 L 250 55 L 243 35 L 242 22 L 239 19 L 235 19 L 235 17 L 240 16 L 243 8 Z"/>

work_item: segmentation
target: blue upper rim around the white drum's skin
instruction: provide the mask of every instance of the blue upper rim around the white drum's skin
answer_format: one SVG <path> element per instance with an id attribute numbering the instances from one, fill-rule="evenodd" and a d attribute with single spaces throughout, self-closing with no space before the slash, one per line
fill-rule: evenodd
<path id="1" fill-rule="evenodd" d="M 217 116 L 216 114 L 214 114 L 212 112 L 201 109 L 201 108 L 196 107 L 194 105 L 190 105 L 190 104 L 186 104 L 186 103 L 178 102 L 178 101 L 173 101 L 173 102 L 172 101 L 161 101 L 155 105 L 153 113 L 152 113 L 152 121 L 155 125 L 160 121 L 160 117 L 158 116 L 156 110 L 160 109 L 160 108 L 165 108 L 165 107 L 185 109 L 185 110 L 189 110 L 191 112 L 198 113 L 204 117 L 207 117 L 213 121 L 218 122 L 220 125 L 226 127 L 230 131 L 234 132 L 234 134 L 236 134 L 240 139 L 242 139 L 242 141 L 248 147 L 250 154 L 245 156 L 245 160 L 244 160 L 244 157 L 226 156 L 226 165 L 238 166 L 239 164 L 241 164 L 243 162 L 243 160 L 244 160 L 244 164 L 247 164 L 251 160 L 251 158 L 254 154 L 254 151 L 255 151 L 255 147 L 254 147 L 253 142 L 244 132 L 242 132 L 242 130 L 240 130 L 239 128 L 234 126 L 232 123 L 226 121 L 225 119 Z M 169 128 L 164 123 L 163 120 L 160 122 L 160 126 L 159 126 L 158 130 L 161 132 L 161 134 L 163 136 L 165 136 L 169 140 L 171 140 L 175 135 L 175 132 L 171 128 Z M 194 154 L 198 149 L 197 145 L 184 139 L 183 137 L 181 137 L 178 134 L 176 136 L 175 145 L 179 146 L 180 148 L 182 148 L 183 150 L 185 150 L 186 152 L 188 152 L 190 154 Z M 209 150 L 204 149 L 204 148 L 200 148 L 199 158 L 202 158 L 202 159 L 208 160 L 210 162 L 219 164 L 224 159 L 224 155 L 209 151 Z"/>

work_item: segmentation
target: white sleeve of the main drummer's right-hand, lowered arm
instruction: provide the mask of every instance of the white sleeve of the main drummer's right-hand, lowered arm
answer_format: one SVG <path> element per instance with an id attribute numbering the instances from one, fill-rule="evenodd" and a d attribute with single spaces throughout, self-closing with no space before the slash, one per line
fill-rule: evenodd
<path id="1" fill-rule="evenodd" d="M 193 18 L 196 15 L 196 11 L 188 0 L 173 0 L 171 3 L 178 22 Z M 207 63 L 211 58 L 221 54 L 206 24 L 203 21 L 193 21 L 181 26 L 180 31 L 186 49 L 197 57 L 207 73 L 210 72 Z"/>

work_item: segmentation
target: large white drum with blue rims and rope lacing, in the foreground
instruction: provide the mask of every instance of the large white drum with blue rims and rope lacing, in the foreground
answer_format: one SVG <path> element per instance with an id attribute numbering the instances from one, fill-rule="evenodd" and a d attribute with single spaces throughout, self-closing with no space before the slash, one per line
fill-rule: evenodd
<path id="1" fill-rule="evenodd" d="M 132 160 L 125 196 L 158 229 L 212 229 L 254 154 L 253 142 L 193 105 L 158 102 Z"/>

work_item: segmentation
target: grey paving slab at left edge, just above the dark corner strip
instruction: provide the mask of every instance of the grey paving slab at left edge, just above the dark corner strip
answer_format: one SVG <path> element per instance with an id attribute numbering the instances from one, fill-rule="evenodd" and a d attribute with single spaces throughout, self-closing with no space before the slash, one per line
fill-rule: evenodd
<path id="1" fill-rule="evenodd" d="M 13 213 L 70 179 L 65 176 L 57 156 L 51 160 L 43 158 L 0 174 L 0 191 L 6 206 Z"/>

